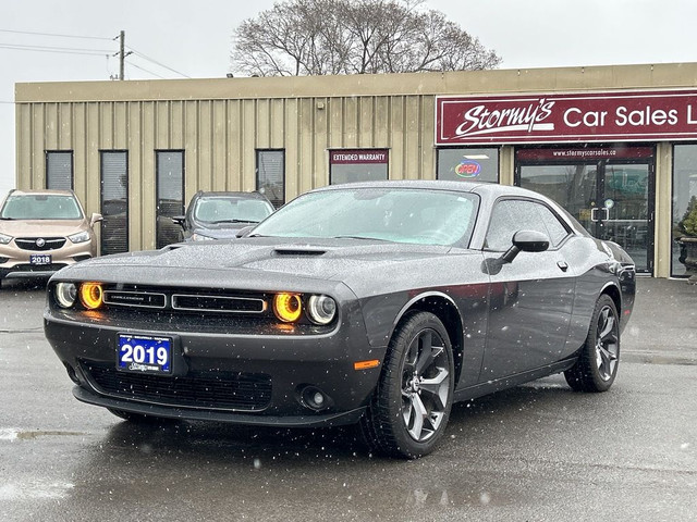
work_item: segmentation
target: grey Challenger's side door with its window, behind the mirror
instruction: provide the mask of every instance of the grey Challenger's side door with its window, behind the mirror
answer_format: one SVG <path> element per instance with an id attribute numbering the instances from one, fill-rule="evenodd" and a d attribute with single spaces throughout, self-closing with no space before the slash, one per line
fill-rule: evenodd
<path id="1" fill-rule="evenodd" d="M 519 252 L 511 263 L 501 254 L 521 229 L 545 233 L 543 252 Z M 573 238 L 555 212 L 541 201 L 500 199 L 486 236 L 485 262 L 491 295 L 487 347 L 480 382 L 550 364 L 565 356 L 575 291 L 575 273 L 564 252 Z"/>

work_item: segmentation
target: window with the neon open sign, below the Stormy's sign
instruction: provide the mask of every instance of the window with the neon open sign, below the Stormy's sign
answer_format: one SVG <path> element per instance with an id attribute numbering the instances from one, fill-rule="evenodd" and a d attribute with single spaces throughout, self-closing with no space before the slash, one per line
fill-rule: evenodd
<path id="1" fill-rule="evenodd" d="M 438 149 L 438 179 L 499 183 L 499 149 Z"/>

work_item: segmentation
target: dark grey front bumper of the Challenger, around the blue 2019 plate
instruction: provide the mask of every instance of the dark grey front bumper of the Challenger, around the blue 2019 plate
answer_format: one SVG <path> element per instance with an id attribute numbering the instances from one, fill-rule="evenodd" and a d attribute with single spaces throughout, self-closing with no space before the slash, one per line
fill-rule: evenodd
<path id="1" fill-rule="evenodd" d="M 88 314 L 76 321 L 47 308 L 45 333 L 77 384 L 78 400 L 152 417 L 239 424 L 318 426 L 356 422 L 370 400 L 387 347 L 370 346 L 357 303 L 346 303 L 331 332 L 241 335 L 176 324 L 109 324 Z M 204 328 L 201 328 L 204 330 Z M 231 322 L 230 332 L 234 331 Z M 173 338 L 171 376 L 118 372 L 119 333 Z M 308 394 L 321 393 L 321 407 Z"/>

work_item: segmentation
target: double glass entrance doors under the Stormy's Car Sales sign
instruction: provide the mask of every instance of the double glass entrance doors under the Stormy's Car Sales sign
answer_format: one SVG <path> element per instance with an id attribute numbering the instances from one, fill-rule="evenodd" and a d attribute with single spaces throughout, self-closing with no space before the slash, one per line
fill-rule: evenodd
<path id="1" fill-rule="evenodd" d="M 601 148 L 597 154 L 579 150 L 582 159 L 571 161 L 574 149 L 516 151 L 516 183 L 563 206 L 594 236 L 621 245 L 634 259 L 637 272 L 650 274 L 652 148 Z"/>

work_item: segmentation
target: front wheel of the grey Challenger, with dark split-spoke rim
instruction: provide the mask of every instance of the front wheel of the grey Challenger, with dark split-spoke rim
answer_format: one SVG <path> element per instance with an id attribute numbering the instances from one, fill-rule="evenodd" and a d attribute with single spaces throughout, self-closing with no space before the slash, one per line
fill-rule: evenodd
<path id="1" fill-rule="evenodd" d="M 408 459 L 431 452 L 448 424 L 454 381 L 453 350 L 443 323 L 429 312 L 405 315 L 362 419 L 368 444 Z"/>

